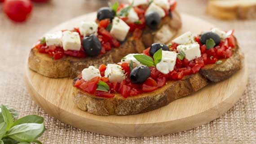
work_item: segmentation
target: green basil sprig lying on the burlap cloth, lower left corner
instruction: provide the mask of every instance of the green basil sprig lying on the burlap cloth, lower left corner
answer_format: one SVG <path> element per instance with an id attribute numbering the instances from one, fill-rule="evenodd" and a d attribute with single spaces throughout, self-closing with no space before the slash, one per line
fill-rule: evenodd
<path id="1" fill-rule="evenodd" d="M 13 114 L 1 105 L 4 122 L 0 123 L 0 144 L 42 144 L 36 140 L 45 131 L 44 118 L 28 115 L 14 121 Z"/>

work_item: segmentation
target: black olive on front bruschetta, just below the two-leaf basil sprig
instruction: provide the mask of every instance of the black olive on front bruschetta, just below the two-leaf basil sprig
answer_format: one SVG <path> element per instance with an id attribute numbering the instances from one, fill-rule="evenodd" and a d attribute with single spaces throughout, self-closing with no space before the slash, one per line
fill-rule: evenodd
<path id="1" fill-rule="evenodd" d="M 150 73 L 149 67 L 144 65 L 136 66 L 130 74 L 131 82 L 137 84 L 143 83 L 150 77 Z"/>

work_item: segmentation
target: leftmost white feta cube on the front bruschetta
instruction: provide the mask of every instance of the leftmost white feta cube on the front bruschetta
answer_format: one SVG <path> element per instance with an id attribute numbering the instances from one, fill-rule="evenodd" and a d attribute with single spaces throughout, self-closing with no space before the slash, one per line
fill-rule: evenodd
<path id="1" fill-rule="evenodd" d="M 95 77 L 101 77 L 101 73 L 100 70 L 94 66 L 89 66 L 88 68 L 82 71 L 82 78 L 85 81 L 89 81 Z"/>

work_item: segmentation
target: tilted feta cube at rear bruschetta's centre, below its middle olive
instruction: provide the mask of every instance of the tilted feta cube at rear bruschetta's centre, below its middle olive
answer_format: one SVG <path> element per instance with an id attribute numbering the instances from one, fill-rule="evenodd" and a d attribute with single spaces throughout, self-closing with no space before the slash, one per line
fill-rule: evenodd
<path id="1" fill-rule="evenodd" d="M 126 38 L 129 30 L 130 26 L 128 26 L 123 20 L 118 17 L 113 19 L 113 26 L 110 30 L 110 34 L 116 39 L 123 41 Z"/>

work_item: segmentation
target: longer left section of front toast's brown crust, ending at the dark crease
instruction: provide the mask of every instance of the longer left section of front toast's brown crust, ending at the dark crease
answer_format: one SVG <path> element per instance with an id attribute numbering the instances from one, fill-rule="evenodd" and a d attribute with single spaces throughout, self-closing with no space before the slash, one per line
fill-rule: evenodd
<path id="1" fill-rule="evenodd" d="M 179 81 L 168 81 L 165 86 L 153 92 L 126 99 L 120 94 L 115 94 L 114 98 L 101 98 L 73 87 L 73 101 L 79 109 L 96 115 L 132 115 L 168 105 L 173 100 L 194 93 L 207 84 L 207 79 L 197 73 Z"/>

